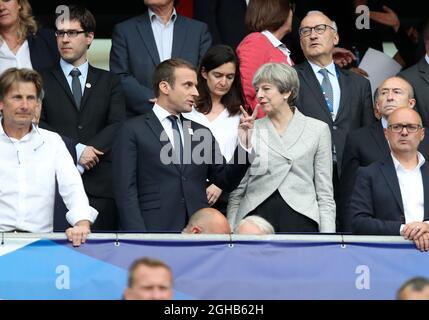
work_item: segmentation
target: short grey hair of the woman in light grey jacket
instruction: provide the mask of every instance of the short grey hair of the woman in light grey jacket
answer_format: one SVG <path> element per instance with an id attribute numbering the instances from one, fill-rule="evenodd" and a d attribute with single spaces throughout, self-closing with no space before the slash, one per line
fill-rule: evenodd
<path id="1" fill-rule="evenodd" d="M 299 78 L 295 69 L 285 63 L 263 64 L 253 76 L 252 84 L 256 87 L 261 82 L 268 82 L 277 87 L 280 93 L 290 92 L 287 102 L 292 106 L 298 97 Z"/>

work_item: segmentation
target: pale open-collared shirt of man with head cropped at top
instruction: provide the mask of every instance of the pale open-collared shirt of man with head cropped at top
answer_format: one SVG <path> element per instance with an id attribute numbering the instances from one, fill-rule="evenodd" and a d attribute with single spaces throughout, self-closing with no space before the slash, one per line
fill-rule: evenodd
<path id="1" fill-rule="evenodd" d="M 171 17 L 166 24 L 152 10 L 148 9 L 148 13 L 159 60 L 162 62 L 170 59 L 173 48 L 174 22 L 177 19 L 176 9 L 173 8 Z"/>

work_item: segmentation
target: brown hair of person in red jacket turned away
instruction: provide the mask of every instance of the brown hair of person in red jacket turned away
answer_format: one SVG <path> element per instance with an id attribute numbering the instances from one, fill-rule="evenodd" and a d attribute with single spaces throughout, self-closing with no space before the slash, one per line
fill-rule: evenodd
<path id="1" fill-rule="evenodd" d="M 289 17 L 289 0 L 251 0 L 245 24 L 248 32 L 276 31 Z"/>

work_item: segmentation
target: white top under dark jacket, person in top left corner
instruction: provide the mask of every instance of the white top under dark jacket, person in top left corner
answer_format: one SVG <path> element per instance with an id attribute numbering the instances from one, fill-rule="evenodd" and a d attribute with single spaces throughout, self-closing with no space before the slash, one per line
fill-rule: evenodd
<path id="1" fill-rule="evenodd" d="M 24 41 L 16 54 L 9 49 L 6 41 L 0 40 L 0 74 L 9 68 L 33 69 L 27 40 Z"/>

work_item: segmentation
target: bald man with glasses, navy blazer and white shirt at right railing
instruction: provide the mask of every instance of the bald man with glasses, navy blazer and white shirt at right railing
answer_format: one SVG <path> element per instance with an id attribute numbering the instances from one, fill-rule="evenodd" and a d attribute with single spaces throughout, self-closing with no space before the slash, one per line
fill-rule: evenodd
<path id="1" fill-rule="evenodd" d="M 390 114 L 384 134 L 390 154 L 358 169 L 350 200 L 356 234 L 402 235 L 429 250 L 429 166 L 418 152 L 425 129 L 412 108 Z"/>

